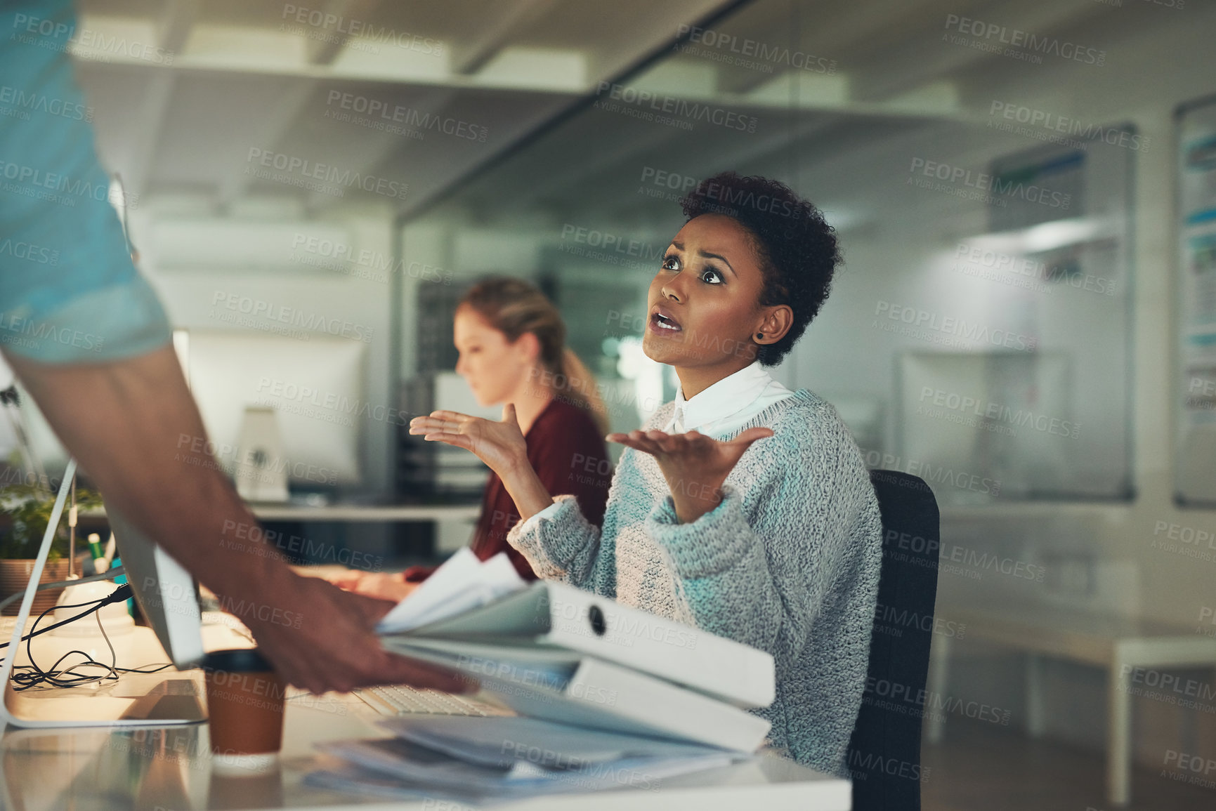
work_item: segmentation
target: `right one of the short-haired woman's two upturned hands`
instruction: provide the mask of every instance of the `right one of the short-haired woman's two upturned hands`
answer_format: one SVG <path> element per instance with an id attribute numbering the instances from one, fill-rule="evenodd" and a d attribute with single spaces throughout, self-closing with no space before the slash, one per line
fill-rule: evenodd
<path id="1" fill-rule="evenodd" d="M 676 517 L 689 524 L 722 502 L 722 483 L 751 443 L 772 437 L 771 428 L 749 428 L 730 441 L 719 441 L 696 430 L 666 434 L 662 430 L 631 430 L 608 434 L 620 443 L 653 456 L 668 480 Z"/>

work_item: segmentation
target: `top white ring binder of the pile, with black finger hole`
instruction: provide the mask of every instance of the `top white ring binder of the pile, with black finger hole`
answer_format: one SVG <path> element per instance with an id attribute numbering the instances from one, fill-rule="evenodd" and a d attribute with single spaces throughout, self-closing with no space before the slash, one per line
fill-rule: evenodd
<path id="1" fill-rule="evenodd" d="M 488 604 L 385 637 L 574 651 L 742 708 L 772 704 L 772 655 L 562 582 L 540 581 Z"/>

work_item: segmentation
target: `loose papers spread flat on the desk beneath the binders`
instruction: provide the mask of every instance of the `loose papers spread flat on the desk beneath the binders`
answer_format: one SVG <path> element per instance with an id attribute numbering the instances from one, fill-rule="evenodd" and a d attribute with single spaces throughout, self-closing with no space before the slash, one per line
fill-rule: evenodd
<path id="1" fill-rule="evenodd" d="M 413 715 L 385 721 L 394 738 L 320 748 L 331 768 L 319 788 L 395 799 L 463 801 L 610 788 L 654 788 L 666 777 L 744 758 L 711 747 L 624 736 L 525 717 Z"/>

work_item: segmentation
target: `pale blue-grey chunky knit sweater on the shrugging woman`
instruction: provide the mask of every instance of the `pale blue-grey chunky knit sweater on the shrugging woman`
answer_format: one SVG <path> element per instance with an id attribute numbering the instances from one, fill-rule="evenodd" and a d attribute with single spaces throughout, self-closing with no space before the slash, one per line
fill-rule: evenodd
<path id="1" fill-rule="evenodd" d="M 662 427 L 672 404 L 647 428 Z M 770 743 L 848 777 L 845 754 L 866 685 L 882 524 L 861 452 L 835 409 L 800 389 L 744 428 L 751 445 L 724 501 L 680 524 L 654 457 L 626 449 L 603 531 L 573 496 L 507 540 L 541 578 L 681 620 L 771 653 L 777 698 L 754 710 Z"/>

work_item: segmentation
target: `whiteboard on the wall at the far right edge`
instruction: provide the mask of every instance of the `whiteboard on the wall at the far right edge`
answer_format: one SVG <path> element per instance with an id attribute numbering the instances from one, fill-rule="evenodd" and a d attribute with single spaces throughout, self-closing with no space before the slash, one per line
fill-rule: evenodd
<path id="1" fill-rule="evenodd" d="M 1178 107 L 1175 499 L 1216 505 L 1216 96 Z"/>

